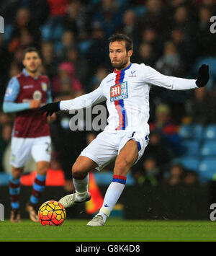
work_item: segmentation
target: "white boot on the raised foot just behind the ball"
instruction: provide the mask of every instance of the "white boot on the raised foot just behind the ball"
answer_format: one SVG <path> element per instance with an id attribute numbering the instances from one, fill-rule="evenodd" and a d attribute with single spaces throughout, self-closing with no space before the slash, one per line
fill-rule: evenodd
<path id="1" fill-rule="evenodd" d="M 78 195 L 78 198 L 81 198 L 80 200 L 77 200 L 76 195 Z M 63 198 L 60 198 L 58 201 L 61 203 L 64 208 L 69 208 L 77 203 L 84 203 L 91 199 L 91 194 L 89 192 L 86 193 L 73 193 L 70 195 L 66 195 Z"/>

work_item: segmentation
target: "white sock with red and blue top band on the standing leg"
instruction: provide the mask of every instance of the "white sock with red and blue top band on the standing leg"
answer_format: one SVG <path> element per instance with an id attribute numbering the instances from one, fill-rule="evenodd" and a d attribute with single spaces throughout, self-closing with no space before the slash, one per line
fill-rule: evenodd
<path id="1" fill-rule="evenodd" d="M 109 185 L 107 192 L 104 197 L 104 203 L 98 215 L 103 217 L 103 222 L 107 220 L 107 217 L 111 213 L 112 209 L 114 208 L 117 200 L 119 200 L 122 191 L 125 188 L 126 184 L 126 177 L 122 175 L 113 175 L 113 179 L 111 184 Z"/>

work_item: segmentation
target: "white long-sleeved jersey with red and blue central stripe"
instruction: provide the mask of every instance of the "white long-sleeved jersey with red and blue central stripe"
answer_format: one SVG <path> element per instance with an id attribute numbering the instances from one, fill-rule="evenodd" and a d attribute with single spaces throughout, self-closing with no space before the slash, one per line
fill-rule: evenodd
<path id="1" fill-rule="evenodd" d="M 78 110 L 107 100 L 109 111 L 105 131 L 137 131 L 149 133 L 149 92 L 152 85 L 166 89 L 197 88 L 194 79 L 160 74 L 145 64 L 130 63 L 126 69 L 114 71 L 89 94 L 60 102 L 60 110 Z"/>

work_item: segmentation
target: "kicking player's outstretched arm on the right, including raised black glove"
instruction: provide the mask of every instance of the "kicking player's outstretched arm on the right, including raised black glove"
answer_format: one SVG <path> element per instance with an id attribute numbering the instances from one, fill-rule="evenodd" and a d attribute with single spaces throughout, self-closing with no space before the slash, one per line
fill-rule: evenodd
<path id="1" fill-rule="evenodd" d="M 144 80 L 148 84 L 172 90 L 194 89 L 204 87 L 209 80 L 209 66 L 203 64 L 198 71 L 197 79 L 184 79 L 175 76 L 165 76 L 150 66 L 145 66 Z"/>

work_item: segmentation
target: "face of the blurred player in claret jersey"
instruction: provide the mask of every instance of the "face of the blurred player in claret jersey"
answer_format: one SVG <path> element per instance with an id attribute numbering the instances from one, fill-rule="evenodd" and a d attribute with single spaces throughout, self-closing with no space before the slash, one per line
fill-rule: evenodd
<path id="1" fill-rule="evenodd" d="M 23 60 L 23 65 L 27 71 L 35 73 L 41 65 L 41 59 L 36 52 L 26 53 Z"/>

